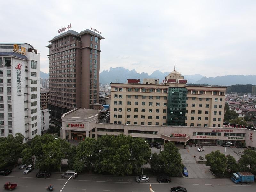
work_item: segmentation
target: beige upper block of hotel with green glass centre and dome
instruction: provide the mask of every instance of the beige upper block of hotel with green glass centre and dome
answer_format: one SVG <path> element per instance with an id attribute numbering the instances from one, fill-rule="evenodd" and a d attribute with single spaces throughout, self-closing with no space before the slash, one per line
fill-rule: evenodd
<path id="1" fill-rule="evenodd" d="M 154 82 L 153 82 L 154 83 Z M 111 84 L 113 124 L 220 127 L 226 87 L 187 86 L 172 71 L 163 84 Z"/>

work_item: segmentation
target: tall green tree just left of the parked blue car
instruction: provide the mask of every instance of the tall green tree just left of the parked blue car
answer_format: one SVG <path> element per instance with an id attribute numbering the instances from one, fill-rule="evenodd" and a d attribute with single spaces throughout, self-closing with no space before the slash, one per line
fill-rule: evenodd
<path id="1" fill-rule="evenodd" d="M 159 154 L 159 160 L 162 170 L 170 176 L 177 176 L 184 165 L 181 163 L 179 149 L 172 142 L 164 144 L 164 150 Z"/>

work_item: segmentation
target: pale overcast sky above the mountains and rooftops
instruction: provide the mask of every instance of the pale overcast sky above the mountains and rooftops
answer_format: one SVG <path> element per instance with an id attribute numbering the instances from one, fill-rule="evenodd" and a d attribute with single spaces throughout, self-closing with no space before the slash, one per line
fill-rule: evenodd
<path id="1" fill-rule="evenodd" d="M 11 3 L 9 3 L 11 2 Z M 72 24 L 101 31 L 110 67 L 203 76 L 256 74 L 256 1 L 2 1 L 0 42 L 29 43 L 49 71 L 48 41 Z"/>

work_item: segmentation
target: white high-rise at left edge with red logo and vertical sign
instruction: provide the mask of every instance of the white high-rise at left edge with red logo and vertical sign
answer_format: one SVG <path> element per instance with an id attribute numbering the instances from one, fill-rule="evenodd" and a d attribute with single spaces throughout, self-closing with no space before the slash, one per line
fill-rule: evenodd
<path id="1" fill-rule="evenodd" d="M 0 43 L 1 137 L 40 135 L 40 55 L 27 43 Z"/>

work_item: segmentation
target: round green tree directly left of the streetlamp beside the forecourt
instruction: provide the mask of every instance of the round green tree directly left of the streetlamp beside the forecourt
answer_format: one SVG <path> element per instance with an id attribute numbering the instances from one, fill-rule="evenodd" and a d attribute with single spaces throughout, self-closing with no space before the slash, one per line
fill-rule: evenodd
<path id="1" fill-rule="evenodd" d="M 223 153 L 220 153 L 219 150 L 206 154 L 205 159 L 205 165 L 209 166 L 212 171 L 224 172 L 226 170 L 227 158 Z"/>

